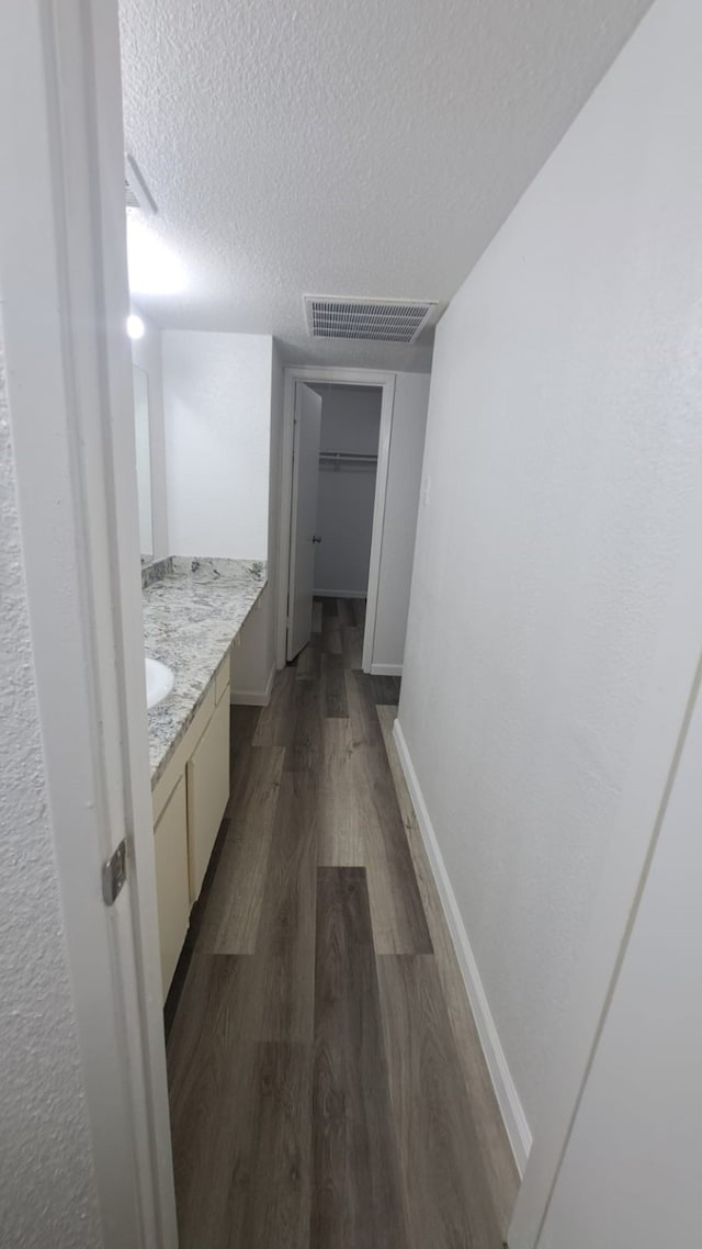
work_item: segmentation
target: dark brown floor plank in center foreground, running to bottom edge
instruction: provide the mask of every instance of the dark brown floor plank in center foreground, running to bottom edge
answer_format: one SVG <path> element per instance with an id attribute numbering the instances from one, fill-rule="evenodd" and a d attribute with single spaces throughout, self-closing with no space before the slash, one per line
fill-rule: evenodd
<path id="1" fill-rule="evenodd" d="M 320 868 L 310 1249 L 405 1249 L 362 868 Z"/>

